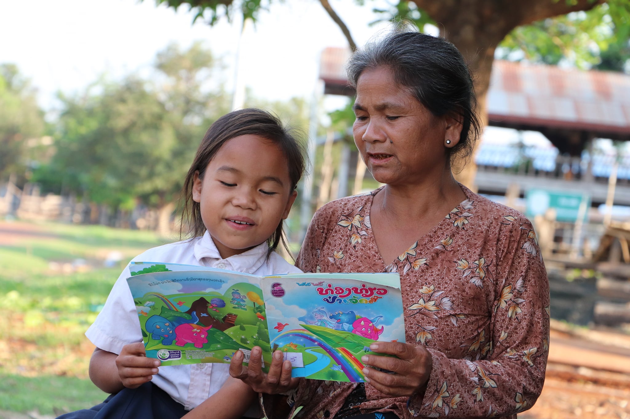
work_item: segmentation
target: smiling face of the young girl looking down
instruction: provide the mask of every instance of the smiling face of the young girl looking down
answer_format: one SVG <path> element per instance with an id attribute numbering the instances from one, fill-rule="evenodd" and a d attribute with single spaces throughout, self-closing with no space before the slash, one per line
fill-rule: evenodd
<path id="1" fill-rule="evenodd" d="M 291 188 L 287 158 L 280 148 L 253 134 L 227 141 L 195 173 L 193 200 L 222 258 L 258 246 L 287 219 L 297 192 Z"/>

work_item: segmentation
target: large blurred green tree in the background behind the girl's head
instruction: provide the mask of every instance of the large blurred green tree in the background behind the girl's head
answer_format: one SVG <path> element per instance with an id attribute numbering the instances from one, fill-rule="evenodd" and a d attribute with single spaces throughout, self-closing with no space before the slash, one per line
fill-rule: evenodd
<path id="1" fill-rule="evenodd" d="M 200 43 L 171 45 L 157 55 L 157 81 L 129 75 L 60 94 L 57 152 L 35 181 L 114 209 L 141 202 L 172 212 L 200 139 L 229 110 L 224 92 L 204 85 L 215 67 Z"/>

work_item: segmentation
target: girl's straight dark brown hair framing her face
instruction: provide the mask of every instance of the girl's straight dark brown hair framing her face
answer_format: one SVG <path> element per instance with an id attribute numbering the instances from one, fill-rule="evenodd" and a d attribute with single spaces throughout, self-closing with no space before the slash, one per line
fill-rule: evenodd
<path id="1" fill-rule="evenodd" d="M 199 171 L 199 178 L 203 178 L 210 160 L 214 158 L 223 144 L 232 138 L 247 134 L 268 139 L 284 152 L 287 158 L 291 190 L 295 190 L 297 187 L 297 182 L 299 182 L 302 173 L 304 173 L 306 162 L 304 160 L 304 146 L 297 141 L 295 134 L 286 128 L 280 119 L 262 109 L 246 108 L 230 112 L 210 125 L 197 149 L 195 160 L 193 160 L 186 175 L 182 191 L 184 207 L 181 214 L 180 238 L 185 224 L 188 225 L 188 234 L 186 236 L 203 236 L 206 231 L 201 217 L 200 205 L 193 200 L 195 172 Z M 284 220 L 280 220 L 280 224 L 278 224 L 273 236 L 267 239 L 267 244 L 269 245 L 268 255 L 275 251 L 280 243 L 289 251 L 284 237 L 283 224 Z"/>

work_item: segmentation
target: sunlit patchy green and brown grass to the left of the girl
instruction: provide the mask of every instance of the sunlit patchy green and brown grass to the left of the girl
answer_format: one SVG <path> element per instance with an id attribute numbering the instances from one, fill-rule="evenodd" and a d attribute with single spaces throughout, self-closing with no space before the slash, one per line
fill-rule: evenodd
<path id="1" fill-rule="evenodd" d="M 28 234 L 15 233 L 21 226 Z M 88 378 L 94 346 L 83 334 L 125 264 L 166 241 L 146 231 L 1 220 L 0 237 L 0 410 L 56 415 L 100 403 L 106 395 Z M 122 260 L 106 268 L 112 252 Z"/>

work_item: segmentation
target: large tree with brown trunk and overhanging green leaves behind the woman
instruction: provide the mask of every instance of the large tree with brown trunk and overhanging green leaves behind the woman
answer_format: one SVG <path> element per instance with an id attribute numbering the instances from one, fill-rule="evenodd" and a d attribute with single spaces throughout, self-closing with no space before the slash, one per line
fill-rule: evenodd
<path id="1" fill-rule="evenodd" d="M 355 42 L 328 0 L 319 0 L 354 49 Z M 234 14 L 258 18 L 272 0 L 156 0 L 173 8 L 186 5 L 194 20 L 215 24 Z M 355 0 L 359 5 L 369 0 Z M 475 74 L 478 110 L 486 117 L 486 93 L 497 48 L 505 58 L 566 61 L 581 68 L 621 70 L 628 57 L 630 0 L 392 0 L 391 8 L 374 9 L 383 19 L 434 23 L 454 43 Z M 585 13 L 586 12 L 586 13 Z M 346 16 L 347 19 L 352 16 Z M 515 53 L 520 53 L 515 54 Z M 474 165 L 459 175 L 471 184 Z"/>

